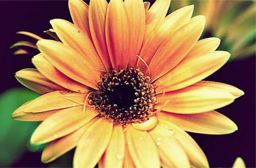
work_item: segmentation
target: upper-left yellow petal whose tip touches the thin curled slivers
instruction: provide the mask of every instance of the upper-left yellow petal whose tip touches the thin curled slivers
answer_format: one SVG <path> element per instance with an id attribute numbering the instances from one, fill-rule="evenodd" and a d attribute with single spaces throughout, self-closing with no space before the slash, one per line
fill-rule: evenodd
<path id="1" fill-rule="evenodd" d="M 63 74 L 97 89 L 100 72 L 77 51 L 53 40 L 39 40 L 36 45 L 44 57 Z"/>

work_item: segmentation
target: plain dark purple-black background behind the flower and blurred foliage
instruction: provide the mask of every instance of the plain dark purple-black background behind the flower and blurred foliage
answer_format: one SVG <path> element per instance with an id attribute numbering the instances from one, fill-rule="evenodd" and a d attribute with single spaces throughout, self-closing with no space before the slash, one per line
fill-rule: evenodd
<path id="1" fill-rule="evenodd" d="M 9 49 L 16 41 L 27 39 L 15 32 L 28 31 L 49 38 L 43 31 L 51 28 L 49 20 L 55 18 L 71 21 L 68 1 L 0 1 L 0 93 L 9 88 L 22 87 L 14 77 L 15 72 L 34 67 L 32 56 L 13 55 L 14 50 Z M 243 158 L 247 167 L 255 167 L 255 57 L 229 62 L 207 80 L 231 84 L 245 92 L 233 104 L 218 110 L 237 124 L 238 131 L 230 135 L 190 135 L 204 150 L 210 167 L 231 167 L 238 156 Z M 72 165 L 72 152 L 65 158 Z M 13 165 L 48 166 L 41 163 L 39 152 L 29 151 Z"/>

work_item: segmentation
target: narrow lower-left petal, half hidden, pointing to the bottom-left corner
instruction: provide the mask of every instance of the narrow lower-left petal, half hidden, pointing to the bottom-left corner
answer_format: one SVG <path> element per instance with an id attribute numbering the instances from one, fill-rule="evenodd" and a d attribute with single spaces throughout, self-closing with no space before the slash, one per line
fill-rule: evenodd
<path id="1" fill-rule="evenodd" d="M 90 126 L 97 120 L 94 118 L 86 123 L 84 126 L 79 128 L 78 130 L 61 137 L 60 139 L 54 140 L 50 142 L 46 148 L 44 148 L 42 153 L 42 162 L 49 163 L 56 158 L 60 157 L 64 153 L 67 153 L 69 150 L 76 147 L 78 141 L 80 140 L 81 136 L 84 134 L 85 131 L 88 130 Z"/>

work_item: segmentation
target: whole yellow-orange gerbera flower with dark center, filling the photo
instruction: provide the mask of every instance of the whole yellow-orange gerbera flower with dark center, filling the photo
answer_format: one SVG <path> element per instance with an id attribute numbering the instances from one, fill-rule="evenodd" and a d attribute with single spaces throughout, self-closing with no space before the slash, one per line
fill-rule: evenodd
<path id="1" fill-rule="evenodd" d="M 185 131 L 236 131 L 214 109 L 243 92 L 201 81 L 230 54 L 215 51 L 218 38 L 198 41 L 205 18 L 191 18 L 193 6 L 166 16 L 169 5 L 71 0 L 74 24 L 50 21 L 59 41 L 39 40 L 36 69 L 16 72 L 42 96 L 13 113 L 14 119 L 43 121 L 31 137 L 32 144 L 48 143 L 43 162 L 76 147 L 74 167 L 208 167 Z"/>

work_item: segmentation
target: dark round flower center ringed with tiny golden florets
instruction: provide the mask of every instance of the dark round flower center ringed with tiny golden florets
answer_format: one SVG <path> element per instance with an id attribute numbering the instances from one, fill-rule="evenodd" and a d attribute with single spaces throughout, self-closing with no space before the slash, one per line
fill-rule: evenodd
<path id="1" fill-rule="evenodd" d="M 156 105 L 150 77 L 131 67 L 103 72 L 98 90 L 89 99 L 102 117 L 123 125 L 144 122 L 154 114 Z"/>

